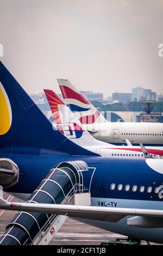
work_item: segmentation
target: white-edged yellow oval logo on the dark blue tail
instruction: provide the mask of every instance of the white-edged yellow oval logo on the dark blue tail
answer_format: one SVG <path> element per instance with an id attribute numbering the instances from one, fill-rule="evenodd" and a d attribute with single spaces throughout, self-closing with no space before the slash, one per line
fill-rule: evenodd
<path id="1" fill-rule="evenodd" d="M 12 122 L 12 112 L 10 101 L 0 82 L 0 136 L 10 130 Z"/>

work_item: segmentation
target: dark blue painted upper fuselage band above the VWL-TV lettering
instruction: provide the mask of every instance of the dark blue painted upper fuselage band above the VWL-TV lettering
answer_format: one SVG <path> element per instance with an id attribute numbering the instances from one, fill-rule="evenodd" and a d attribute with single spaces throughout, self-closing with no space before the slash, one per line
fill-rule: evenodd
<path id="1" fill-rule="evenodd" d="M 0 158 L 9 158 L 20 169 L 18 183 L 11 187 L 10 192 L 32 193 L 37 185 L 45 178 L 50 169 L 63 161 L 83 160 L 89 166 L 89 171 L 83 172 L 84 187 L 90 187 L 92 169 L 96 168 L 91 182 L 91 197 L 93 198 L 118 198 L 133 200 L 159 201 L 158 194 L 154 193 L 155 187 L 163 182 L 163 175 L 150 168 L 145 159 L 112 159 L 111 157 L 68 156 L 68 155 L 37 155 L 37 154 L 0 154 Z M 115 184 L 115 189 L 110 190 L 110 185 Z M 117 186 L 122 184 L 122 190 Z M 130 185 L 130 190 L 124 187 Z M 133 192 L 131 187 L 137 186 Z M 145 191 L 140 192 L 140 186 L 145 186 Z M 152 187 L 152 192 L 147 192 L 147 187 Z"/>

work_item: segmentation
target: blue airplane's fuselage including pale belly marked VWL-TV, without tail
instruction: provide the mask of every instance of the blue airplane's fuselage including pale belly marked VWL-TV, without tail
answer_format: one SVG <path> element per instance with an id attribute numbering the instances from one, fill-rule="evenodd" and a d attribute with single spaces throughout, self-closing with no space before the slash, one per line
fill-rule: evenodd
<path id="1" fill-rule="evenodd" d="M 90 187 L 91 182 L 91 200 L 92 205 L 104 207 L 123 207 L 123 208 L 142 208 L 142 209 L 163 209 L 162 199 L 154 193 L 155 187 L 162 185 L 163 175 L 150 168 L 145 159 L 111 159 L 98 156 L 68 156 L 53 155 L 46 153 L 37 154 L 4 154 L 0 157 L 7 157 L 13 160 L 20 168 L 20 178 L 18 183 L 10 188 L 10 193 L 28 193 L 31 194 L 41 180 L 45 178 L 51 168 L 62 161 L 84 160 L 88 166 L 88 171 L 83 171 L 84 188 Z M 110 190 L 110 185 L 115 184 L 115 190 Z M 119 184 L 123 185 L 121 191 L 118 191 Z M 137 191 L 126 191 L 126 185 L 137 186 Z M 140 186 L 145 186 L 145 191 L 140 192 Z M 152 186 L 152 192 L 147 193 L 147 187 Z M 163 243 L 163 229 L 147 229 L 129 227 L 127 225 L 127 216 L 122 220 L 114 222 L 104 222 L 95 220 L 84 220 L 82 222 L 95 225 L 116 233 L 143 239 L 153 242 Z"/>

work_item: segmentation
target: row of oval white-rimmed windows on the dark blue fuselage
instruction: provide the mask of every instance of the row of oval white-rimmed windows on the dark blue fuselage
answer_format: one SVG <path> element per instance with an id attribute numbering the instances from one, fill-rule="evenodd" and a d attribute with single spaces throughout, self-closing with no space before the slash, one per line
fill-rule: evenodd
<path id="1" fill-rule="evenodd" d="M 115 185 L 114 183 L 112 183 L 112 184 L 110 185 L 110 189 L 111 189 L 111 190 L 115 190 L 115 187 L 116 187 L 116 185 Z M 123 185 L 122 185 L 122 184 L 119 184 L 119 185 L 117 186 L 117 190 L 118 190 L 118 191 L 121 191 L 122 188 L 123 188 Z M 137 188 L 137 185 L 134 185 L 134 186 L 131 187 L 131 190 L 132 190 L 133 192 L 136 192 L 137 189 L 138 189 L 138 188 Z M 124 187 L 124 190 L 125 190 L 125 191 L 129 191 L 129 190 L 130 190 L 130 185 L 126 185 L 126 186 Z M 145 186 L 140 186 L 139 191 L 140 191 L 140 192 L 144 192 L 144 191 L 145 191 Z M 147 193 L 151 193 L 151 192 L 152 192 L 152 187 L 151 187 L 151 186 L 147 187 Z M 155 187 L 154 193 L 156 193 L 156 194 L 159 193 L 159 187 Z"/>

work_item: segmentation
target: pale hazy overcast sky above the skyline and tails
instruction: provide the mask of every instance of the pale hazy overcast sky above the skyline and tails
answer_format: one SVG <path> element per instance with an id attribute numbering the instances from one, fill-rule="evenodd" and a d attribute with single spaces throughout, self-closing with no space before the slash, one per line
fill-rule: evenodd
<path id="1" fill-rule="evenodd" d="M 163 93 L 163 0 L 0 0 L 2 62 L 28 93 Z"/>

